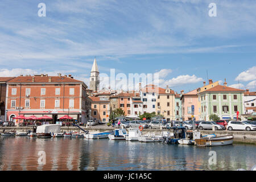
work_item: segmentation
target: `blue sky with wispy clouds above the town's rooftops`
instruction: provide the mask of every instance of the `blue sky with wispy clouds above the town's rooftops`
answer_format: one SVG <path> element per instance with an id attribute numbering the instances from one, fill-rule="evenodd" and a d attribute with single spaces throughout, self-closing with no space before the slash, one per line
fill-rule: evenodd
<path id="1" fill-rule="evenodd" d="M 96 56 L 101 73 L 159 72 L 160 86 L 177 92 L 202 86 L 207 70 L 255 90 L 255 10 L 249 0 L 2 0 L 0 76 L 60 72 L 88 84 Z"/>

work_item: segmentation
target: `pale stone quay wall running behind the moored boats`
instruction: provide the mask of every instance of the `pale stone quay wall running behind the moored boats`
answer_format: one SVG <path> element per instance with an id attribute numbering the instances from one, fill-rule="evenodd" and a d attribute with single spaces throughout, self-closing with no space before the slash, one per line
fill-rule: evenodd
<path id="1" fill-rule="evenodd" d="M 113 127 L 92 127 L 92 128 L 86 128 L 82 127 L 84 130 L 89 130 L 89 131 L 97 131 L 97 132 L 105 132 L 105 131 L 112 131 L 114 128 Z M 11 130 L 16 130 L 16 131 L 28 131 L 28 130 L 33 130 L 33 127 L 0 127 L 0 133 L 2 131 L 11 131 Z M 77 127 L 61 127 L 61 132 L 68 132 L 68 131 L 81 131 Z M 143 134 L 149 134 L 149 133 L 154 133 L 161 135 L 162 132 L 170 131 L 172 130 L 158 130 L 158 129 L 144 129 L 142 131 Z M 209 134 L 216 134 L 217 136 L 223 136 L 223 135 L 233 135 L 234 136 L 234 142 L 237 143 L 251 143 L 251 144 L 256 144 L 256 131 L 223 131 L 223 130 L 218 130 L 218 131 L 212 131 L 212 130 L 201 130 L 200 131 L 202 135 L 209 135 Z"/>

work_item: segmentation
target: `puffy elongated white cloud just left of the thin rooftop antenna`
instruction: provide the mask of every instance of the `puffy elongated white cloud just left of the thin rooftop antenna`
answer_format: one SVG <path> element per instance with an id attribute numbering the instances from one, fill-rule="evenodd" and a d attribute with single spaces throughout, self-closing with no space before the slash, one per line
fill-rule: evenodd
<path id="1" fill-rule="evenodd" d="M 195 75 L 180 75 L 176 78 L 172 78 L 164 82 L 165 85 L 168 86 L 181 86 L 185 84 L 195 84 L 197 82 L 204 81 L 203 78 L 196 77 Z"/>

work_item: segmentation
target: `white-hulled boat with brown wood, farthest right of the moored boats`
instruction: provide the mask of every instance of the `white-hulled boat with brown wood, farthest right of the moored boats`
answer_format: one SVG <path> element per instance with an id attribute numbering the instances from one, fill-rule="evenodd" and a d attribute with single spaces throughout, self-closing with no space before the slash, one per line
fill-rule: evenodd
<path id="1" fill-rule="evenodd" d="M 197 146 L 226 146 L 232 144 L 234 140 L 233 135 L 225 135 L 221 137 L 209 137 L 209 138 L 200 138 L 195 139 Z"/>

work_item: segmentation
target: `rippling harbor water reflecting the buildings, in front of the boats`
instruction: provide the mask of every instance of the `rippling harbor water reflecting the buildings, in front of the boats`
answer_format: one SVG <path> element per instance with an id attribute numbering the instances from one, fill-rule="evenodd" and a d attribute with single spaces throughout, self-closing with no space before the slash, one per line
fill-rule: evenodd
<path id="1" fill-rule="evenodd" d="M 255 164 L 256 146 L 250 144 L 198 147 L 109 139 L 0 137 L 0 170 L 250 170 Z"/>

